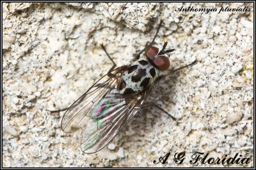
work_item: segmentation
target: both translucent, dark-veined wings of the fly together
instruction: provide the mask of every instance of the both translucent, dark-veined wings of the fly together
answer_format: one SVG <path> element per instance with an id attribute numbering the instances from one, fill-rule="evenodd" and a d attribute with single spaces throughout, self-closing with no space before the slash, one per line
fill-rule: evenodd
<path id="1" fill-rule="evenodd" d="M 118 86 L 124 69 L 113 71 L 115 76 L 103 76 L 68 108 L 61 120 L 64 132 L 74 132 L 84 124 L 81 149 L 94 153 L 106 146 L 131 120 L 147 97 L 147 90 L 120 94 Z"/>

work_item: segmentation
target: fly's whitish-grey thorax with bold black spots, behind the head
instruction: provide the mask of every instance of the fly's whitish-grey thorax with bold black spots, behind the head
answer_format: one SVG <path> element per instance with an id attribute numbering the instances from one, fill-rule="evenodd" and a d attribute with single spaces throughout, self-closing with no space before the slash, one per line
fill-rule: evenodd
<path id="1" fill-rule="evenodd" d="M 147 59 L 137 60 L 124 73 L 125 90 L 140 92 L 152 85 L 158 75 L 159 71 Z"/>

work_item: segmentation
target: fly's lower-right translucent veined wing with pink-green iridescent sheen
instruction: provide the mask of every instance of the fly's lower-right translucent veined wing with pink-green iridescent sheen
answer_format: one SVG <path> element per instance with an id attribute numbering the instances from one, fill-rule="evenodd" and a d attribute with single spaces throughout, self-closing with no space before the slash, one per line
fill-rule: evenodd
<path id="1" fill-rule="evenodd" d="M 111 89 L 92 112 L 92 119 L 83 134 L 81 150 L 95 153 L 106 146 L 136 115 L 145 98 L 145 92 L 123 95 Z"/>

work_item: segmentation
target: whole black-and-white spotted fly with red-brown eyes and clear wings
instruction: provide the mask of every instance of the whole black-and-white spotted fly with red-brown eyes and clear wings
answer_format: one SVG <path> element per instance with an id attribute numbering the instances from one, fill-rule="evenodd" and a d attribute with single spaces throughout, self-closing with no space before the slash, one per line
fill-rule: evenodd
<path id="1" fill-rule="evenodd" d="M 116 68 L 115 62 L 102 45 L 106 55 L 113 62 L 113 67 L 74 104 L 64 109 L 67 111 L 61 120 L 61 129 L 68 133 L 76 131 L 81 124 L 84 124 L 81 143 L 81 150 L 84 153 L 95 153 L 108 145 L 109 141 L 136 115 L 153 85 L 164 76 L 164 71 L 169 69 L 168 54 L 174 49 L 166 49 L 167 42 L 162 48 L 152 46 L 162 22 L 152 42 L 126 66 Z M 195 62 L 172 71 L 192 64 Z"/>

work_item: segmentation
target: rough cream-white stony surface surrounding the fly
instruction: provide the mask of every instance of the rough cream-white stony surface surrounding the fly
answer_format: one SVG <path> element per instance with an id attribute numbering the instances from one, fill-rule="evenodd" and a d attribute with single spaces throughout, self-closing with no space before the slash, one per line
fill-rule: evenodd
<path id="1" fill-rule="evenodd" d="M 180 6 L 251 11 L 175 11 Z M 62 132 L 64 112 L 47 109 L 67 108 L 106 74 L 111 62 L 100 43 L 118 66 L 128 64 L 160 19 L 156 45 L 175 48 L 172 66 L 198 60 L 148 98 L 178 122 L 141 110 L 108 147 L 84 154 L 81 132 Z M 3 167 L 223 166 L 189 164 L 196 151 L 239 153 L 250 157 L 244 167 L 253 166 L 252 3 L 3 3 Z M 153 164 L 168 152 L 168 164 Z M 186 152 L 181 165 L 176 152 Z"/>

